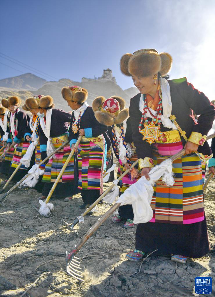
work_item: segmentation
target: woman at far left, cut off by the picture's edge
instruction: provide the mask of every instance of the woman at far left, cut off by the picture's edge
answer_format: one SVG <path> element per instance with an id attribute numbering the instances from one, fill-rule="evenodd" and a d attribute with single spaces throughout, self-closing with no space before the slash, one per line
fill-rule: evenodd
<path id="1" fill-rule="evenodd" d="M 2 135 L 2 138 L 4 140 L 4 146 L 5 149 L 4 151 L 7 149 L 7 139 L 8 139 L 8 135 L 10 133 L 10 111 L 8 111 L 8 106 L 9 106 L 9 101 L 8 98 L 4 98 L 1 100 L 1 104 L 2 107 L 5 109 L 1 110 L 1 115 L 0 115 L 0 133 Z M 0 172 L 2 174 L 7 175 L 10 169 L 10 164 L 13 158 L 13 154 L 14 154 L 14 148 L 12 147 L 10 149 L 10 151 L 8 151 L 4 157 L 2 158 L 2 162 L 1 162 L 1 168 L 0 168 Z"/>

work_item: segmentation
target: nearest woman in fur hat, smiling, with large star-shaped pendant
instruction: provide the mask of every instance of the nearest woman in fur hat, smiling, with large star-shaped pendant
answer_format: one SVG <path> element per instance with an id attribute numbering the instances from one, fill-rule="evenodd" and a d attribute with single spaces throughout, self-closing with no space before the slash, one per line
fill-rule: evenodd
<path id="1" fill-rule="evenodd" d="M 149 180 L 154 165 L 186 149 L 186 155 L 172 164 L 175 184 L 167 187 L 159 180 L 154 187 L 153 217 L 137 226 L 135 250 L 126 255 L 132 261 L 154 252 L 173 254 L 172 260 L 185 263 L 187 257 L 199 258 L 210 250 L 201 163 L 211 157 L 205 138 L 215 110 L 186 78 L 165 79 L 171 65 L 168 53 L 154 49 L 125 54 L 120 61 L 121 71 L 140 91 L 131 98 L 129 115 L 141 175 Z M 198 124 L 192 110 L 200 115 Z"/>

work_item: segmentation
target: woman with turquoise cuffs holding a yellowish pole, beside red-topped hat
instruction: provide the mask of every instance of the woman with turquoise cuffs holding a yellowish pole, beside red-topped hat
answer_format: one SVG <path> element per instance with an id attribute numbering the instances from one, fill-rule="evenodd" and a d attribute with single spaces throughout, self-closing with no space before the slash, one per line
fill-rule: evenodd
<path id="1" fill-rule="evenodd" d="M 69 128 L 71 149 L 81 135 L 78 146 L 79 181 L 83 205 L 87 208 L 103 192 L 103 170 L 106 162 L 106 142 L 103 133 L 107 127 L 100 124 L 94 115 L 92 107 L 86 100 L 88 92 L 78 86 L 69 86 L 62 89 L 62 96 L 73 109 Z"/>

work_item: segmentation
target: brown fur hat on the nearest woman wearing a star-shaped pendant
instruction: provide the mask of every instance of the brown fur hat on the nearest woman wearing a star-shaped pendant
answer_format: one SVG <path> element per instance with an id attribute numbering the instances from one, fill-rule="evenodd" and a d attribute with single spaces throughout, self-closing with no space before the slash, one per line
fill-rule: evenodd
<path id="1" fill-rule="evenodd" d="M 168 53 L 158 53 L 153 48 L 137 50 L 125 54 L 120 60 L 121 72 L 127 76 L 146 77 L 160 72 L 166 75 L 172 67 L 172 56 Z"/>

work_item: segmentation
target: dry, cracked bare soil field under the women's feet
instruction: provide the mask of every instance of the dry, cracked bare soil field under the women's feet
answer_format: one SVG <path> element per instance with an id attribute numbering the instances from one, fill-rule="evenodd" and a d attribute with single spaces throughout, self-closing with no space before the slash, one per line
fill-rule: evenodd
<path id="1" fill-rule="evenodd" d="M 38 196 L 35 190 L 18 189 L 0 204 L 0 296 L 197 296 L 195 277 L 215 279 L 215 179 L 205 190 L 212 249 L 207 256 L 186 264 L 153 255 L 142 263 L 127 261 L 125 254 L 134 248 L 136 226 L 126 230 L 123 223 L 114 225 L 109 218 L 77 255 L 84 282 L 65 272 L 65 252 L 73 249 L 110 205 L 98 205 L 72 232 L 63 219 L 72 222 L 81 214 L 80 195 L 71 202 L 51 199 L 55 207 L 51 217 L 38 213 Z"/>

